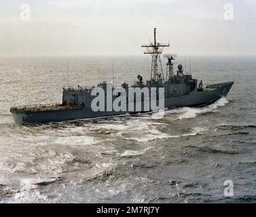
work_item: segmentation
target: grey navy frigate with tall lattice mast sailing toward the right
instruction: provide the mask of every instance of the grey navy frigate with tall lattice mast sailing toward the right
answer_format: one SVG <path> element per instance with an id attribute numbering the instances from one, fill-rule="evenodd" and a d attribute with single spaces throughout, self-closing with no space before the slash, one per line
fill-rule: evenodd
<path id="1" fill-rule="evenodd" d="M 144 54 L 150 54 L 152 57 L 151 62 L 151 75 L 149 81 L 143 81 L 141 75 L 137 76 L 137 81 L 132 85 L 128 83 L 122 83 L 122 90 L 128 93 L 130 88 L 136 88 L 143 90 L 145 87 L 149 90 L 149 93 L 156 90 L 156 104 L 160 103 L 160 89 L 164 88 L 164 109 L 175 109 L 182 106 L 204 106 L 211 104 L 223 96 L 227 96 L 228 92 L 234 81 L 225 83 L 215 83 L 212 85 L 206 85 L 204 87 L 202 81 L 198 82 L 191 76 L 191 71 L 186 72 L 181 64 L 178 64 L 177 71 L 174 70 L 173 60 L 177 58 L 175 54 L 165 54 L 164 58 L 167 59 L 166 73 L 162 68 L 161 56 L 164 47 L 169 47 L 170 44 L 158 43 L 156 41 L 156 28 L 154 28 L 154 41 L 149 44 L 142 45 L 145 47 Z M 105 102 L 111 100 L 114 102 L 120 95 L 113 94 L 109 98 L 107 89 L 111 87 L 110 82 L 98 83 L 97 87 L 104 90 Z M 92 109 L 92 101 L 98 96 L 92 95 L 93 88 L 88 87 L 63 87 L 62 90 L 62 102 L 55 104 L 38 104 L 38 105 L 24 105 L 13 106 L 10 109 L 14 121 L 16 123 L 49 123 L 56 121 L 68 121 L 74 119 L 88 119 L 94 117 L 107 117 L 113 115 L 126 115 L 134 113 L 145 113 L 155 111 L 153 106 L 149 104 L 149 107 L 145 108 L 145 98 L 143 94 L 141 96 L 130 97 L 126 96 L 126 109 L 107 109 L 107 104 L 103 109 L 95 111 Z M 124 94 L 124 93 L 123 93 Z M 159 95 L 158 95 L 159 94 Z M 139 98 L 139 106 L 138 105 Z M 151 95 L 149 98 L 151 101 Z M 135 103 L 133 110 L 130 109 L 130 104 Z M 129 108 L 128 108 L 129 107 Z M 159 109 L 159 108 L 158 108 Z"/>

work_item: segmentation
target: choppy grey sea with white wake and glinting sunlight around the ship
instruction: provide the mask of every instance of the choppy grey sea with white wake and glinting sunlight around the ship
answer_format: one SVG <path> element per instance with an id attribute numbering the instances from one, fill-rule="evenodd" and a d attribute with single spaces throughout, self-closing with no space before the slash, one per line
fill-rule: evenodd
<path id="1" fill-rule="evenodd" d="M 235 81 L 203 108 L 16 125 L 14 104 L 60 102 L 62 87 L 149 77 L 138 57 L 0 59 L 1 203 L 256 202 L 256 58 L 194 57 L 206 83 Z M 182 59 L 177 62 L 183 62 Z M 165 67 L 165 66 L 164 66 Z M 234 196 L 223 183 L 232 180 Z"/>

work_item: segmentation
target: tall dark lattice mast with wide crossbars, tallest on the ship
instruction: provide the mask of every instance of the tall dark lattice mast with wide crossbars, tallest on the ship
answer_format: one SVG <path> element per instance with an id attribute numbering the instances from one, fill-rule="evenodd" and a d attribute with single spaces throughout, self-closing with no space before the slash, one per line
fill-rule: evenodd
<path id="1" fill-rule="evenodd" d="M 170 43 L 157 43 L 156 42 L 156 28 L 153 29 L 154 41 L 146 45 L 141 45 L 141 47 L 146 47 L 144 54 L 151 54 L 151 81 L 158 81 L 161 77 L 164 79 L 164 73 L 162 69 L 161 54 L 164 47 L 170 47 Z"/>

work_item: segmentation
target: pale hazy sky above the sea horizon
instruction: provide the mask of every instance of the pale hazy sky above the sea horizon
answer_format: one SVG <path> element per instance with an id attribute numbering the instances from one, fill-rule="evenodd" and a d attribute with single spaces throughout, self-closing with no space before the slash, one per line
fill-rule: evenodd
<path id="1" fill-rule="evenodd" d="M 256 0 L 1 0 L 0 16 L 0 56 L 138 55 L 154 27 L 166 52 L 256 55 Z"/>

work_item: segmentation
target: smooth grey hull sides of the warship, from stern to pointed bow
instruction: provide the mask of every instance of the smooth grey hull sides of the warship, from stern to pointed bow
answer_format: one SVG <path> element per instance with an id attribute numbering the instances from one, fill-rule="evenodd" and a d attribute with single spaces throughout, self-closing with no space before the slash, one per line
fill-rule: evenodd
<path id="1" fill-rule="evenodd" d="M 175 109 L 182 106 L 200 106 L 204 104 L 211 104 L 222 96 L 227 96 L 228 92 L 234 82 L 219 83 L 215 85 L 208 85 L 207 88 L 202 91 L 195 89 L 187 95 L 174 96 L 165 98 L 164 106 L 166 109 Z M 57 121 L 68 121 L 74 119 L 88 119 L 94 117 L 107 117 L 113 115 L 125 115 L 128 112 L 94 112 L 88 108 L 76 108 L 76 109 L 57 109 L 49 111 L 24 111 L 17 112 L 12 111 L 12 116 L 15 123 L 27 124 L 27 123 L 49 123 Z"/>

